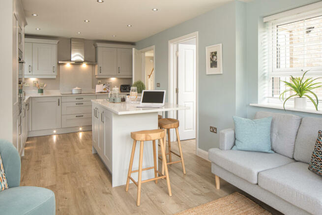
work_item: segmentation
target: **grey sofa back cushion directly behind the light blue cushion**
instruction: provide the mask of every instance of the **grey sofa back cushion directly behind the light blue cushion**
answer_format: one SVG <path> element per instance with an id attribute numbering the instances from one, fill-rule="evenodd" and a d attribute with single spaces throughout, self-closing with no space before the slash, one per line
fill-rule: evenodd
<path id="1" fill-rule="evenodd" d="M 291 114 L 278 114 L 259 111 L 255 119 L 273 117 L 270 131 L 272 150 L 293 158 L 295 138 L 301 117 Z"/>

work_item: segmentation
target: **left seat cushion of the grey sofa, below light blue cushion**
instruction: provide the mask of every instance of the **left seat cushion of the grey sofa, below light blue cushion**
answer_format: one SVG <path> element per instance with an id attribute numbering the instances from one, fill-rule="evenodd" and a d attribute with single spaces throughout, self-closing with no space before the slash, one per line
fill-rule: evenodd
<path id="1" fill-rule="evenodd" d="M 216 148 L 208 151 L 208 157 L 218 166 L 252 184 L 257 184 L 259 172 L 294 162 L 293 159 L 277 153 L 220 150 Z"/>

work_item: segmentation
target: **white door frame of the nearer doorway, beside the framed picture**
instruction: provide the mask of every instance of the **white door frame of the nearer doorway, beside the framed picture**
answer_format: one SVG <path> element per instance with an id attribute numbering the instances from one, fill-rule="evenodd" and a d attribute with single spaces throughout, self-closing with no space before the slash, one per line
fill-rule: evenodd
<path id="1" fill-rule="evenodd" d="M 175 89 L 177 87 L 177 44 L 191 40 L 196 39 L 196 154 L 198 154 L 198 148 L 199 148 L 199 116 L 198 116 L 198 106 L 199 106 L 199 100 L 198 100 L 198 79 L 199 79 L 199 40 L 198 40 L 198 31 L 195 31 L 193 33 L 189 33 L 180 37 L 177 37 L 175 39 L 169 40 L 168 42 L 168 102 L 176 104 L 177 103 L 177 95 L 175 92 Z M 176 119 L 176 111 L 169 111 L 168 117 Z M 171 137 L 174 137 L 174 134 L 171 135 Z"/>

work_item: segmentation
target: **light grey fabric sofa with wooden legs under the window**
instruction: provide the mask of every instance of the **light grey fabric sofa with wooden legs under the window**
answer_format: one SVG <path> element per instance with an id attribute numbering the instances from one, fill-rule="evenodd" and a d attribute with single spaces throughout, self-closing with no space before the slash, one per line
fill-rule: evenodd
<path id="1" fill-rule="evenodd" d="M 286 215 L 322 215 L 322 177 L 308 170 L 322 118 L 257 112 L 272 116 L 274 154 L 231 150 L 234 129 L 220 131 L 220 147 L 208 151 L 211 172 Z"/>

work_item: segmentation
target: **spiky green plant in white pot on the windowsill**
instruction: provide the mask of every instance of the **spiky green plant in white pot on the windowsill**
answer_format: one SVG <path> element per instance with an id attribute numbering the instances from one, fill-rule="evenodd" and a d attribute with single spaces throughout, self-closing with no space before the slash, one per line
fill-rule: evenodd
<path id="1" fill-rule="evenodd" d="M 319 78 L 315 78 L 315 79 L 308 78 L 306 80 L 303 80 L 305 74 L 308 71 L 304 72 L 303 76 L 301 78 L 300 77 L 294 78 L 291 75 L 291 78 L 290 78 L 291 82 L 282 81 L 285 83 L 286 87 L 289 87 L 289 89 L 285 90 L 284 92 L 282 92 L 280 94 L 280 99 L 282 98 L 284 101 L 284 103 L 283 103 L 284 110 L 285 110 L 286 101 L 292 97 L 295 97 L 294 98 L 294 108 L 305 109 L 306 103 L 307 103 L 306 98 L 309 98 L 312 101 L 312 103 L 314 104 L 315 109 L 318 110 L 319 98 L 312 90 L 316 89 L 316 88 L 320 88 L 320 87 L 322 87 L 322 85 L 321 85 L 321 82 L 314 83 L 314 81 Z M 287 92 L 294 92 L 294 94 L 290 95 L 287 98 L 284 98 L 284 96 L 286 95 Z M 316 99 L 316 101 L 312 97 L 314 97 Z"/>

